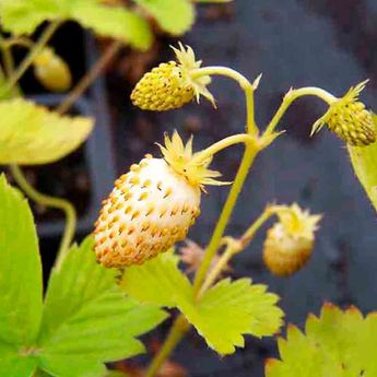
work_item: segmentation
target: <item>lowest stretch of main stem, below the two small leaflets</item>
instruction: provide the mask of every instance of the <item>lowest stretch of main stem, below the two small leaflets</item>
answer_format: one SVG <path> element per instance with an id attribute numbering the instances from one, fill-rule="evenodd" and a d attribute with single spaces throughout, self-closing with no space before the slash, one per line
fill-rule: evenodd
<path id="1" fill-rule="evenodd" d="M 179 315 L 173 323 L 163 346 L 148 368 L 145 377 L 155 376 L 155 374 L 160 370 L 161 366 L 168 358 L 169 354 L 173 352 L 173 350 L 176 347 L 176 345 L 179 343 L 189 328 L 190 325 L 187 322 L 184 315 Z"/>

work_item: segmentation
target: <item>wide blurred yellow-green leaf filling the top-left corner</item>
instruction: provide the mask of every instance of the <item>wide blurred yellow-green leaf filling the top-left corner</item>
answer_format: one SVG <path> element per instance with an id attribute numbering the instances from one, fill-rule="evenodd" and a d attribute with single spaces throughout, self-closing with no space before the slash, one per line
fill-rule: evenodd
<path id="1" fill-rule="evenodd" d="M 102 0 L 0 0 L 0 22 L 14 34 L 32 34 L 44 21 L 74 20 L 96 34 L 119 39 L 136 48 L 150 47 L 149 23 L 123 7 Z"/>

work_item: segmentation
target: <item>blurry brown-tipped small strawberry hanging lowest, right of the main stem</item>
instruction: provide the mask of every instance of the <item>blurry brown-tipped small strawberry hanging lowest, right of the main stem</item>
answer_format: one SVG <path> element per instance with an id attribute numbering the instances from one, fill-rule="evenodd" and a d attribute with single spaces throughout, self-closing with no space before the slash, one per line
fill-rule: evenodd
<path id="1" fill-rule="evenodd" d="M 311 256 L 315 231 L 321 216 L 309 215 L 297 204 L 281 207 L 280 221 L 267 233 L 263 261 L 275 275 L 288 276 L 302 269 Z"/>

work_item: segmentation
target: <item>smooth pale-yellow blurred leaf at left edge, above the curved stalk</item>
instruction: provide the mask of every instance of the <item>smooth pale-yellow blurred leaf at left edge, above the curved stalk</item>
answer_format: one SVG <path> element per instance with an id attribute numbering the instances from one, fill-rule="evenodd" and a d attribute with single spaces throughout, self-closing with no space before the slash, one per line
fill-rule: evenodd
<path id="1" fill-rule="evenodd" d="M 22 98 L 0 102 L 0 164 L 57 161 L 83 143 L 93 119 L 60 116 Z"/>

